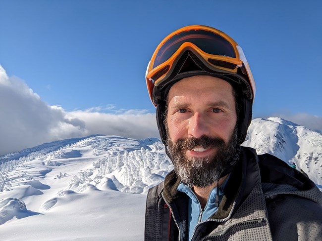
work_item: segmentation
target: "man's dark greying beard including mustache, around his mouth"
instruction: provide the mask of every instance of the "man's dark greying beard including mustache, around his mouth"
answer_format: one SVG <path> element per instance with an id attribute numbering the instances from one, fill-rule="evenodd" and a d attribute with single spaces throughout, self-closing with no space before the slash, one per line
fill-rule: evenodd
<path id="1" fill-rule="evenodd" d="M 166 125 L 166 132 L 168 128 Z M 188 187 L 205 188 L 218 182 L 227 163 L 235 156 L 237 128 L 235 127 L 227 144 L 219 137 L 201 136 L 179 139 L 175 143 L 168 137 L 167 149 L 174 165 L 174 171 Z M 215 148 L 214 156 L 207 158 L 187 157 L 186 152 L 196 147 Z"/>

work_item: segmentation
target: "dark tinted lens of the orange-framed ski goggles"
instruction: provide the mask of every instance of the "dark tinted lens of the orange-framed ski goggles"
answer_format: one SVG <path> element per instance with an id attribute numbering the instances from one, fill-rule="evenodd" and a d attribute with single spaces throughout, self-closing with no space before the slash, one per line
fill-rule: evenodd
<path id="1" fill-rule="evenodd" d="M 214 32 L 189 30 L 174 35 L 163 43 L 155 57 L 152 69 L 167 61 L 184 42 L 191 42 L 208 54 L 236 58 L 235 50 L 228 40 Z"/>

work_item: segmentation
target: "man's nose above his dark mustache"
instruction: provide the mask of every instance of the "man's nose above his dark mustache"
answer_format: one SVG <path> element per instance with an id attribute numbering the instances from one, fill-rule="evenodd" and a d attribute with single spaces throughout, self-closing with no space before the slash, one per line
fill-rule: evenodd
<path id="1" fill-rule="evenodd" d="M 189 120 L 188 135 L 199 138 L 202 135 L 209 135 L 209 125 L 206 118 L 199 112 L 195 112 Z"/>

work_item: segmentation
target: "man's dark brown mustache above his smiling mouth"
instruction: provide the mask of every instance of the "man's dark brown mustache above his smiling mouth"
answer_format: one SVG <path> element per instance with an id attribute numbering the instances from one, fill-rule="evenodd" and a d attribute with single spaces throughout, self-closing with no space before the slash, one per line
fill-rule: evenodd
<path id="1" fill-rule="evenodd" d="M 192 150 L 196 147 L 209 149 L 224 147 L 225 142 L 220 137 L 201 136 L 199 138 L 189 137 L 187 139 L 179 139 L 176 141 L 175 146 L 179 150 Z"/>

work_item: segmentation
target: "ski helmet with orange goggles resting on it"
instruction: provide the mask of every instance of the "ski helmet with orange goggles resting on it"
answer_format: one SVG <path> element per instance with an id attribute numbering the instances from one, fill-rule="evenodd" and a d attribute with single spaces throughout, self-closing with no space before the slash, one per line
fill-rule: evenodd
<path id="1" fill-rule="evenodd" d="M 164 125 L 166 96 L 183 78 L 209 75 L 228 81 L 238 105 L 237 138 L 244 142 L 252 120 L 256 86 L 242 48 L 225 33 L 208 26 L 192 25 L 168 35 L 156 48 L 146 72 L 152 103 L 156 106 L 161 140 L 166 144 Z"/>

